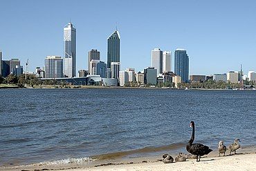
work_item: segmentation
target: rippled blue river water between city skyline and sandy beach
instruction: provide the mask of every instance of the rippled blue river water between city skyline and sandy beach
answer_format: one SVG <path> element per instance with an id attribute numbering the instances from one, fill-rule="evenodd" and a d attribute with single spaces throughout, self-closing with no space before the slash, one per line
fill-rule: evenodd
<path id="1" fill-rule="evenodd" d="M 256 91 L 15 89 L 0 99 L 0 165 L 185 152 L 192 120 L 195 141 L 214 150 L 256 145 Z"/>

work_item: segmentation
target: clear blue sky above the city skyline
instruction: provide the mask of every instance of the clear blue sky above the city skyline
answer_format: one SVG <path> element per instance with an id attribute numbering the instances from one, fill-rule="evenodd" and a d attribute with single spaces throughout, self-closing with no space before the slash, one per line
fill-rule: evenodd
<path id="1" fill-rule="evenodd" d="M 47 55 L 63 57 L 63 27 L 77 28 L 77 70 L 96 48 L 107 62 L 107 37 L 121 36 L 121 68 L 151 66 L 151 50 L 184 48 L 190 74 L 256 70 L 256 1 L 0 1 L 3 59 L 19 58 L 29 70 Z"/>

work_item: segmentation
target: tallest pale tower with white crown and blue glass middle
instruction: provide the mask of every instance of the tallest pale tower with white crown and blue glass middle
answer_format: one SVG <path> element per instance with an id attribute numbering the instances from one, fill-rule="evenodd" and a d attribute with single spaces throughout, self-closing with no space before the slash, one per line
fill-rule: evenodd
<path id="1" fill-rule="evenodd" d="M 76 29 L 69 22 L 64 27 L 64 75 L 75 77 L 76 74 Z"/>

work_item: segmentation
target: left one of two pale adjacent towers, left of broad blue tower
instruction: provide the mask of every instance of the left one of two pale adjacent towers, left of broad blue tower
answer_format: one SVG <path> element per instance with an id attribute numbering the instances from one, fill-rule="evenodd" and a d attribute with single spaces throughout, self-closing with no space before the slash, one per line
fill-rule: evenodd
<path id="1" fill-rule="evenodd" d="M 157 74 L 163 73 L 163 51 L 159 48 L 155 48 L 151 53 L 152 67 L 157 70 Z"/>

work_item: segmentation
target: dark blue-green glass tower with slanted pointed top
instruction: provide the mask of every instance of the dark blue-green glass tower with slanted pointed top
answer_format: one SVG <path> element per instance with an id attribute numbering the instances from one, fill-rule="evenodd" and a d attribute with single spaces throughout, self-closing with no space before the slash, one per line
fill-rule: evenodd
<path id="1" fill-rule="evenodd" d="M 107 68 L 111 68 L 111 62 L 120 62 L 120 34 L 118 30 L 115 30 L 107 38 Z"/>

